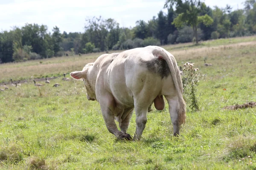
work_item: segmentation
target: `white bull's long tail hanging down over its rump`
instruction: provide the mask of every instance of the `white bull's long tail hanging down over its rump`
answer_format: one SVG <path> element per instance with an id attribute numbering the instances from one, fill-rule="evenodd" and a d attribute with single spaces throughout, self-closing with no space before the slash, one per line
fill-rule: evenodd
<path id="1" fill-rule="evenodd" d="M 182 80 L 179 72 L 179 68 L 177 66 L 176 59 L 173 57 L 173 55 L 168 56 L 166 54 L 165 50 L 163 48 L 156 47 L 155 50 L 153 50 L 154 56 L 157 56 L 159 58 L 163 58 L 167 64 L 168 67 L 171 71 L 172 79 L 178 94 L 178 99 L 179 99 L 179 105 L 180 107 L 178 108 L 178 122 L 179 125 L 185 124 L 186 120 L 186 103 L 183 99 L 182 93 L 183 93 L 183 85 L 182 85 Z M 175 71 L 176 70 L 176 71 Z"/>

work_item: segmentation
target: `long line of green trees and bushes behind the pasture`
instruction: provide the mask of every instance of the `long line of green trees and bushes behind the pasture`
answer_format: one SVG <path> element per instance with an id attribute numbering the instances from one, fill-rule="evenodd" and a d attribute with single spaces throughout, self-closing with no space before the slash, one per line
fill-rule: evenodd
<path id="1" fill-rule="evenodd" d="M 0 32 L 0 63 L 256 34 L 256 0 L 243 4 L 243 9 L 232 10 L 228 5 L 210 8 L 201 0 L 166 0 L 167 14 L 159 11 L 133 28 L 93 17 L 86 19 L 83 33 L 26 24 Z"/>

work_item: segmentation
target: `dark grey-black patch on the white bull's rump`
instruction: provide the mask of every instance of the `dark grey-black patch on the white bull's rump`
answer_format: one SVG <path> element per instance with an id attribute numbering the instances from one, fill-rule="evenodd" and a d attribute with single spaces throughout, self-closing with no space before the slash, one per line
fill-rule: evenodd
<path id="1" fill-rule="evenodd" d="M 171 73 L 167 62 L 164 59 L 158 58 L 151 61 L 145 61 L 143 59 L 140 59 L 140 62 L 144 63 L 147 66 L 148 71 L 150 71 L 151 73 L 159 74 L 162 79 L 164 77 L 168 77 Z"/>

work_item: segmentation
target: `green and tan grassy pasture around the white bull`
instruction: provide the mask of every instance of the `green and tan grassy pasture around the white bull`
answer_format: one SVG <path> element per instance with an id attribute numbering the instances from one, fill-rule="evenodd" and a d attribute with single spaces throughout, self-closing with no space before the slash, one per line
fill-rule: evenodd
<path id="1" fill-rule="evenodd" d="M 100 54 L 0 65 L 1 85 L 9 87 L 0 91 L 0 169 L 256 169 L 256 107 L 223 109 L 256 102 L 256 37 L 164 48 L 178 65 L 199 68 L 200 111 L 187 110 L 179 138 L 172 136 L 167 105 L 148 113 L 140 141 L 118 141 L 82 81 L 32 82 L 81 70 Z M 27 83 L 15 88 L 9 79 Z M 134 114 L 131 135 L 135 124 Z"/>

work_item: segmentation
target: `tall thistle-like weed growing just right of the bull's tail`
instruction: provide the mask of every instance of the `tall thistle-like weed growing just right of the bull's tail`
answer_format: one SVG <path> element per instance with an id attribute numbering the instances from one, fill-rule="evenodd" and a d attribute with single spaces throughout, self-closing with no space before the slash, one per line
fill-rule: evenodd
<path id="1" fill-rule="evenodd" d="M 198 85 L 198 68 L 194 68 L 193 65 L 186 62 L 183 65 L 183 76 L 182 76 L 182 83 L 183 83 L 183 96 L 185 98 L 188 107 L 192 111 L 199 110 L 199 103 L 198 103 L 198 94 L 197 94 L 197 85 Z"/>

